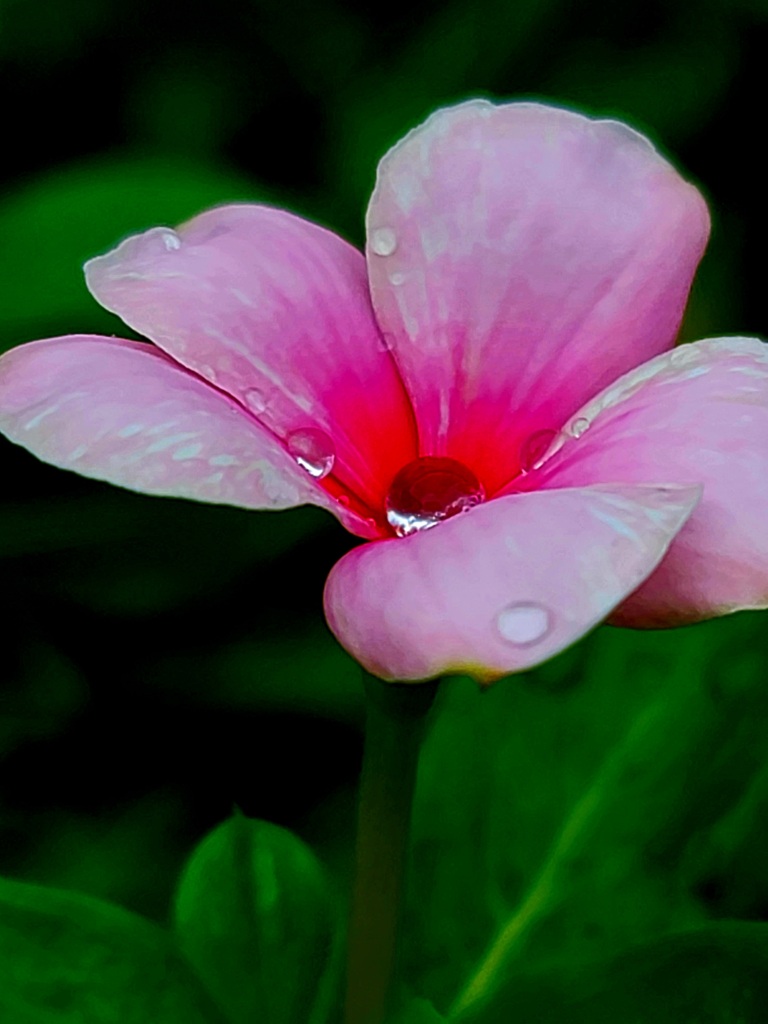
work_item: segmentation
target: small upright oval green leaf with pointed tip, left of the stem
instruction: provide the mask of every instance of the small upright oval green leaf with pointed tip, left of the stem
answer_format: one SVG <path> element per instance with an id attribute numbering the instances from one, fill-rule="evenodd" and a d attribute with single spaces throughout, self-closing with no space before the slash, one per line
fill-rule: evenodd
<path id="1" fill-rule="evenodd" d="M 296 836 L 238 814 L 184 869 L 179 945 L 233 1024 L 321 1024 L 336 994 L 334 901 Z"/>

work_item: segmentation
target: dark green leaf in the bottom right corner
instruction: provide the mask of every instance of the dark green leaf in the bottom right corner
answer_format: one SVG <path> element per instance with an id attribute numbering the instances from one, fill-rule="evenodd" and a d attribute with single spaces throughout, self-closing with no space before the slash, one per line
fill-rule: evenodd
<path id="1" fill-rule="evenodd" d="M 764 1024 L 768 925 L 671 935 L 572 972 L 512 978 L 461 1024 Z"/>

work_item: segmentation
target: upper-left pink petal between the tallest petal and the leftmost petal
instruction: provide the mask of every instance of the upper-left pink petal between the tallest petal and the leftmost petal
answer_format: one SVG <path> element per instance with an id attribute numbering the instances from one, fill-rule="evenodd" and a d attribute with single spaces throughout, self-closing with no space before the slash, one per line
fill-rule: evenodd
<path id="1" fill-rule="evenodd" d="M 270 431 L 330 437 L 323 485 L 370 510 L 414 457 L 396 367 L 382 346 L 362 255 L 283 210 L 209 210 L 86 265 L 96 299 Z"/>

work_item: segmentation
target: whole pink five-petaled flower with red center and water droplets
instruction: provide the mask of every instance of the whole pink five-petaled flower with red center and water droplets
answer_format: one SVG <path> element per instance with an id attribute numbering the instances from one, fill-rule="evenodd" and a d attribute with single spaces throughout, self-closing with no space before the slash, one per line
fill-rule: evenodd
<path id="1" fill-rule="evenodd" d="M 329 509 L 372 542 L 329 624 L 386 679 L 487 681 L 611 613 L 764 607 L 766 346 L 671 347 L 708 231 L 631 129 L 473 100 L 384 158 L 365 257 L 243 205 L 92 260 L 154 344 L 9 352 L 0 425 L 137 490 Z"/>

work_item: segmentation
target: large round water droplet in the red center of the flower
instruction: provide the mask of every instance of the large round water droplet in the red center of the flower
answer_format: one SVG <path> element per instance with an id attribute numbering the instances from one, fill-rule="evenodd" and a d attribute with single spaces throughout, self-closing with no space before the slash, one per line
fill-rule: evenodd
<path id="1" fill-rule="evenodd" d="M 424 456 L 399 471 L 387 495 L 387 521 L 397 537 L 429 529 L 485 498 L 471 469 L 456 459 Z"/>

